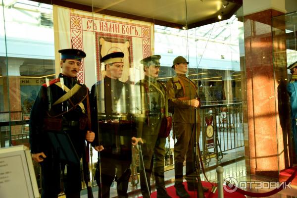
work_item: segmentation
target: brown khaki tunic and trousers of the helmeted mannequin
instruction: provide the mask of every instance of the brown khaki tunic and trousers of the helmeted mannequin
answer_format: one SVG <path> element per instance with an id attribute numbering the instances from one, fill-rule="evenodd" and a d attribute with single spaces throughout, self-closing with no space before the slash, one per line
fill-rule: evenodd
<path id="1" fill-rule="evenodd" d="M 198 97 L 198 88 L 185 74 L 177 74 L 175 82 L 171 78 L 167 82 L 168 108 L 174 108 L 173 131 L 177 142 L 174 145 L 175 163 L 183 163 L 186 160 L 193 162 L 194 121 L 195 108 L 191 106 L 191 99 Z M 200 131 L 200 115 L 197 110 L 197 131 Z M 193 132 L 193 133 L 192 133 Z"/>

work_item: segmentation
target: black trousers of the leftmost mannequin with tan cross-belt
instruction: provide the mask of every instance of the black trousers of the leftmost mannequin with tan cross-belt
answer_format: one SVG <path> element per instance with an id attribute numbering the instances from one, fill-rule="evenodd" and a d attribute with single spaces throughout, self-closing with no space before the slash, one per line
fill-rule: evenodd
<path id="1" fill-rule="evenodd" d="M 84 135 L 81 131 L 66 131 L 80 159 L 84 147 Z M 82 189 L 80 162 L 67 163 L 60 160 L 59 153 L 55 151 L 49 141 L 45 151 L 47 157 L 41 162 L 42 170 L 42 198 L 57 198 L 61 192 L 61 180 L 63 181 L 66 198 L 77 198 Z M 69 154 L 69 153 L 67 153 Z M 65 171 L 66 168 L 66 171 Z M 65 174 L 63 174 L 65 172 Z M 66 174 L 67 173 L 67 174 Z"/>

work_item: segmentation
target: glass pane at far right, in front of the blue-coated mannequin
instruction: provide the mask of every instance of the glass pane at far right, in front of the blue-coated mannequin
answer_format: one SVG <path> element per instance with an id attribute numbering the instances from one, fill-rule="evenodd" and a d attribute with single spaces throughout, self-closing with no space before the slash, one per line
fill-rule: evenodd
<path id="1" fill-rule="evenodd" d="M 273 63 L 274 75 L 277 79 L 275 90 L 278 91 L 278 109 L 280 123 L 277 127 L 285 130 L 292 130 L 288 137 L 289 147 L 282 147 L 282 142 L 278 147 L 279 152 L 291 153 L 293 150 L 293 162 L 286 159 L 286 165 L 296 162 L 297 156 L 297 125 L 296 125 L 296 66 L 297 66 L 297 12 L 292 12 L 273 17 Z M 287 68 L 287 69 L 286 69 Z M 291 107 L 289 109 L 289 106 Z M 290 114 L 289 114 L 290 112 Z M 290 127 L 288 116 L 291 117 Z M 287 128 L 288 127 L 288 128 Z M 284 134 L 285 138 L 285 134 Z M 292 148 L 291 148 L 292 147 Z M 281 163 L 281 162 L 280 162 Z M 280 164 L 282 165 L 282 164 Z"/>

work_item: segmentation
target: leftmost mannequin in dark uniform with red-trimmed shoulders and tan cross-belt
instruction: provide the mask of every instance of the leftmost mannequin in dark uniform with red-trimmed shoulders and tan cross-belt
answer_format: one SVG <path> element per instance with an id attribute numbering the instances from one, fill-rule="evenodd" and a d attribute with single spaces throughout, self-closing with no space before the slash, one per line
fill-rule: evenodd
<path id="1" fill-rule="evenodd" d="M 87 99 L 89 91 L 78 82 L 76 75 L 81 59 L 79 49 L 62 49 L 57 79 L 44 84 L 30 114 L 30 146 L 32 158 L 42 167 L 42 198 L 57 198 L 60 193 L 60 173 L 67 167 L 64 178 L 66 198 L 79 198 L 81 191 L 80 158 L 85 154 L 85 140 L 93 142 L 95 133 L 87 128 Z M 67 90 L 69 94 L 67 94 Z M 61 160 L 49 134 L 67 134 L 75 150 L 78 163 Z M 61 143 L 63 146 L 65 143 Z M 64 149 L 64 148 L 61 148 Z M 66 153 L 70 154 L 70 153 Z"/>

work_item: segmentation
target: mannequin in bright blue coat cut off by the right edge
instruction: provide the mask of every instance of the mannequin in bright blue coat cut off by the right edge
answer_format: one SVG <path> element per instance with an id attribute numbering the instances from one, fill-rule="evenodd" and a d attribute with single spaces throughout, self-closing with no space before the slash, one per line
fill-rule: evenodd
<path id="1" fill-rule="evenodd" d="M 292 73 L 291 82 L 287 86 L 287 91 L 290 96 L 291 104 L 291 122 L 292 122 L 292 131 L 293 139 L 295 145 L 295 156 L 297 156 L 297 61 L 291 64 L 288 69 Z"/>

